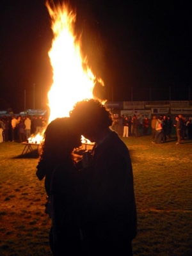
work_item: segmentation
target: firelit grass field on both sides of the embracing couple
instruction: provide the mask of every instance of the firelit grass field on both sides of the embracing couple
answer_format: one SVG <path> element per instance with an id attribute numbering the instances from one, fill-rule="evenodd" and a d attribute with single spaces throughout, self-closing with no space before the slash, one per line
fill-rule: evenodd
<path id="1" fill-rule="evenodd" d="M 138 209 L 134 255 L 192 255 L 192 141 L 161 145 L 150 136 L 124 138 L 130 150 Z M 0 255 L 51 255 L 44 182 L 36 152 L 0 144 Z"/>

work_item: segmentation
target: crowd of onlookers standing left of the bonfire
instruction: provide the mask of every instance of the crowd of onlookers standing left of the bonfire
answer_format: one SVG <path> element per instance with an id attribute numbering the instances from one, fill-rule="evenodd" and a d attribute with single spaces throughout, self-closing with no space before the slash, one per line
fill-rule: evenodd
<path id="1" fill-rule="evenodd" d="M 0 118 L 0 143 L 28 141 L 32 134 L 41 134 L 46 125 L 44 116 L 3 116 Z"/>

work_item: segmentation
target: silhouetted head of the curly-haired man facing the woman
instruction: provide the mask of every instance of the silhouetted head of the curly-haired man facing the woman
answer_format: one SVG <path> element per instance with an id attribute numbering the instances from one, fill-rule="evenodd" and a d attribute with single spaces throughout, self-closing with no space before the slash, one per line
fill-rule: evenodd
<path id="1" fill-rule="evenodd" d="M 99 100 L 82 100 L 70 111 L 72 123 L 88 140 L 93 141 L 99 132 L 112 125 L 112 115 Z"/>

